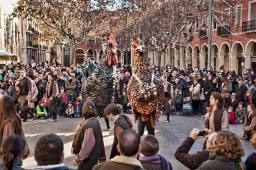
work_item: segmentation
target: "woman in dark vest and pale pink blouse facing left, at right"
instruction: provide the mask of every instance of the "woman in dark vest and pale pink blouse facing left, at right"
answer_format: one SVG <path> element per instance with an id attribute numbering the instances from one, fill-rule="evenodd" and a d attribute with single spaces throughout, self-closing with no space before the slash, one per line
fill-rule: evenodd
<path id="1" fill-rule="evenodd" d="M 210 106 L 210 113 L 205 115 L 205 124 L 210 130 L 210 133 L 218 132 L 220 130 L 229 130 L 229 115 L 228 112 L 223 109 L 223 99 L 221 98 L 220 93 L 211 93 Z"/>

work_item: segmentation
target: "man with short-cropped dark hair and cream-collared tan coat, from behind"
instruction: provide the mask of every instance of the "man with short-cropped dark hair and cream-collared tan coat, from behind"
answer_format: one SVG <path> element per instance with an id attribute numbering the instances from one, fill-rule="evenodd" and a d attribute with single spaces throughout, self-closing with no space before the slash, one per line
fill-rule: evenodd
<path id="1" fill-rule="evenodd" d="M 119 135 L 117 150 L 121 156 L 115 156 L 105 163 L 97 164 L 93 170 L 142 170 L 143 166 L 137 160 L 140 153 L 140 135 L 134 130 L 128 129 Z"/>

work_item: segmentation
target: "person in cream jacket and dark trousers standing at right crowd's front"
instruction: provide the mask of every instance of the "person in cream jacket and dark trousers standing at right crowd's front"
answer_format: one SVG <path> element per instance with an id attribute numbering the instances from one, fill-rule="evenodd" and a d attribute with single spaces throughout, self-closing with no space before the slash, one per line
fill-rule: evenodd
<path id="1" fill-rule="evenodd" d="M 192 95 L 192 106 L 194 109 L 194 114 L 198 114 L 198 106 L 200 103 L 200 90 L 201 85 L 198 83 L 198 79 L 194 79 L 194 84 L 189 88 Z"/>

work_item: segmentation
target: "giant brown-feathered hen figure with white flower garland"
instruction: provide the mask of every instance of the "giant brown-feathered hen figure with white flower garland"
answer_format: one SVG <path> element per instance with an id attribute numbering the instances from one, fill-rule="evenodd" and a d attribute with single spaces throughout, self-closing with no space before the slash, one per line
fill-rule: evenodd
<path id="1" fill-rule="evenodd" d="M 127 96 L 135 121 L 138 120 L 139 134 L 143 135 L 146 126 L 148 134 L 155 135 L 156 119 L 159 116 L 158 106 L 161 106 L 164 96 L 163 82 L 154 76 L 150 69 L 142 40 L 133 35 L 130 44 L 134 55 L 134 67 L 127 85 Z"/>

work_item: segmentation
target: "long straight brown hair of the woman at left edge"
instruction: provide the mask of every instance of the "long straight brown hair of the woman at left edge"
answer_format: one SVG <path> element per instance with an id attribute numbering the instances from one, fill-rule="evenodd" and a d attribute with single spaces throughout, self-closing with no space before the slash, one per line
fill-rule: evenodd
<path id="1" fill-rule="evenodd" d="M 25 138 L 22 122 L 20 116 L 16 114 L 14 101 L 11 96 L 2 96 L 0 99 L 0 129 L 4 129 L 7 122 L 12 122 L 14 126 L 14 133 L 20 135 L 25 140 L 25 150 L 22 153 L 22 159 L 27 158 L 30 154 L 30 150 L 28 148 L 28 143 Z"/>

